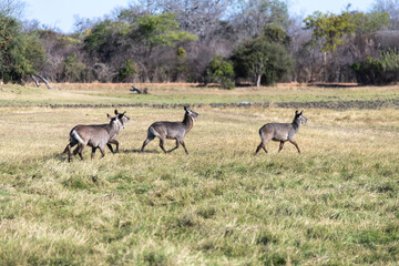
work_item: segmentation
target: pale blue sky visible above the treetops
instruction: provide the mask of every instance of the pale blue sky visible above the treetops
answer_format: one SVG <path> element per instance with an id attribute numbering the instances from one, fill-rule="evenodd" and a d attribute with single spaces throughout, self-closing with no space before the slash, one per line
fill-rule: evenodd
<path id="1" fill-rule="evenodd" d="M 72 32 L 74 17 L 96 19 L 110 14 L 117 7 L 129 7 L 131 0 L 23 0 L 24 19 L 39 20 L 41 24 Z M 375 0 L 288 0 L 291 14 L 311 14 L 314 11 L 340 13 L 348 3 L 351 10 L 368 11 Z"/>

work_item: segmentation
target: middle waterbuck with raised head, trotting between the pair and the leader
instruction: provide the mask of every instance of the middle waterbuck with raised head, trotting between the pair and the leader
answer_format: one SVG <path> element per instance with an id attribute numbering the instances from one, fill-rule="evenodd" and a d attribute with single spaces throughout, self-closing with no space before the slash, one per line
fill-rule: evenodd
<path id="1" fill-rule="evenodd" d="M 187 134 L 190 130 L 193 127 L 194 121 L 200 116 L 200 114 L 190 110 L 190 108 L 186 106 L 184 108 L 184 110 L 185 110 L 185 114 L 183 122 L 160 121 L 150 125 L 147 130 L 147 139 L 144 141 L 141 151 L 143 152 L 145 145 L 149 144 L 149 142 L 151 142 L 152 140 L 154 140 L 156 136 L 160 139 L 160 147 L 162 149 L 162 151 L 164 151 L 164 153 L 173 152 L 178 147 L 180 144 L 182 144 L 185 153 L 188 154 L 188 151 L 185 147 L 183 139 L 185 134 Z M 163 146 L 165 139 L 176 140 L 176 146 L 166 152 L 166 150 Z"/>

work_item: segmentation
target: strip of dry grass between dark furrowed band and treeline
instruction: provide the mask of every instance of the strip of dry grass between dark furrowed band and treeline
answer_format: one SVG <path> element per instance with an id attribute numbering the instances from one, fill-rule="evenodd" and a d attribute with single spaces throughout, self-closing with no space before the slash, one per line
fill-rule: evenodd
<path id="1" fill-rule="evenodd" d="M 57 90 L 32 86 L 0 85 L 0 105 L 37 104 L 133 104 L 133 103 L 236 103 L 236 102 L 309 102 L 309 101 L 351 101 L 391 100 L 399 98 L 398 86 L 359 88 L 236 88 L 222 90 L 202 88 L 198 84 L 162 83 L 135 84 L 149 88 L 149 95 L 137 95 L 129 91 L 130 84 L 54 84 Z"/>

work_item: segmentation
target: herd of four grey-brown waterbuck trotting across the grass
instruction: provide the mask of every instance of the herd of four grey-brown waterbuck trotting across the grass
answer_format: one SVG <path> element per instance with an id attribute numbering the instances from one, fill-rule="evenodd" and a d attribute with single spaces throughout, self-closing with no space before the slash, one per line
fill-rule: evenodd
<path id="1" fill-rule="evenodd" d="M 147 130 L 147 137 L 143 143 L 141 152 L 144 151 L 144 147 L 155 137 L 160 139 L 160 147 L 164 153 L 173 152 L 178 149 L 180 144 L 184 147 L 186 154 L 188 151 L 184 144 L 184 136 L 193 129 L 194 121 L 200 116 L 198 113 L 192 111 L 190 108 L 184 108 L 185 114 L 182 122 L 168 122 L 168 121 L 158 121 L 150 125 Z M 105 155 L 105 145 L 110 149 L 112 153 L 119 152 L 119 142 L 115 140 L 117 133 L 121 129 L 124 129 L 125 123 L 130 121 L 126 116 L 126 112 L 119 113 L 115 110 L 115 116 L 106 114 L 110 119 L 108 124 L 94 124 L 94 125 L 76 125 L 70 132 L 70 142 L 66 145 L 64 153 L 68 153 L 68 162 L 71 162 L 72 154 L 71 149 L 75 145 L 73 155 L 79 154 L 81 160 L 83 160 L 82 152 L 85 146 L 92 147 L 91 158 L 94 157 L 96 149 L 100 149 L 101 156 Z M 294 141 L 295 134 L 298 132 L 301 124 L 307 123 L 307 119 L 304 116 L 304 111 L 300 113 L 295 112 L 295 116 L 291 123 L 267 123 L 259 130 L 260 144 L 257 146 L 255 154 L 257 154 L 260 149 L 266 153 L 265 147 L 266 143 L 272 141 L 279 142 L 278 152 L 283 150 L 284 143 L 286 141 L 293 143 L 295 147 L 300 153 L 298 144 Z M 166 151 L 164 147 L 165 140 L 175 140 L 176 146 L 170 151 Z M 115 145 L 115 151 L 111 144 Z"/>

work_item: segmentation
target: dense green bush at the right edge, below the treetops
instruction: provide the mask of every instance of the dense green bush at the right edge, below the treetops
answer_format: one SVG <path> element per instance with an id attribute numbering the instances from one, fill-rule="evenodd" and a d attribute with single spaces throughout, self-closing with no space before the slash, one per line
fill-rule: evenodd
<path id="1" fill-rule="evenodd" d="M 376 59 L 368 57 L 365 61 L 351 64 L 356 78 L 361 84 L 386 85 L 399 81 L 398 50 L 381 51 Z"/>

